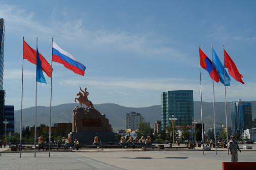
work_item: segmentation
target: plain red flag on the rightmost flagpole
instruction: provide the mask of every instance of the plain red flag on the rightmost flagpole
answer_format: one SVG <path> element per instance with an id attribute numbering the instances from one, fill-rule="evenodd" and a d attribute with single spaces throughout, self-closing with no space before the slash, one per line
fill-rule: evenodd
<path id="1" fill-rule="evenodd" d="M 224 65 L 229 70 L 229 74 L 238 82 L 244 84 L 242 78 L 243 76 L 239 73 L 235 63 L 229 56 L 228 52 L 224 49 Z"/>

